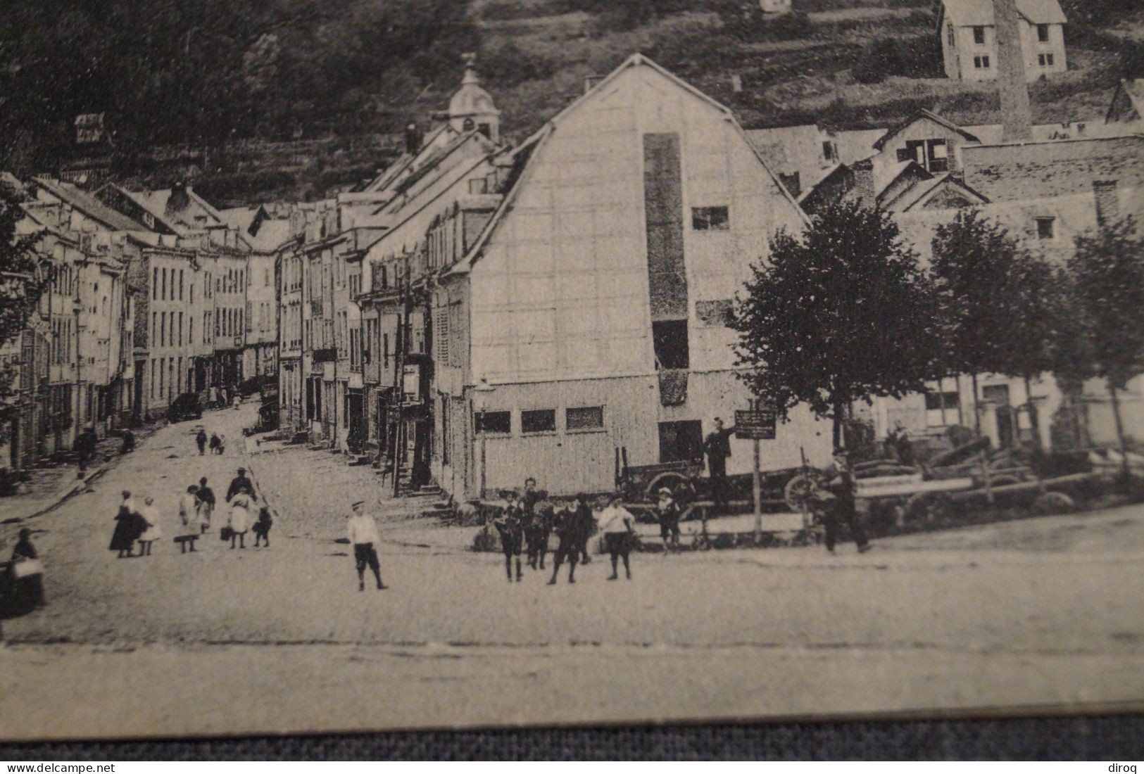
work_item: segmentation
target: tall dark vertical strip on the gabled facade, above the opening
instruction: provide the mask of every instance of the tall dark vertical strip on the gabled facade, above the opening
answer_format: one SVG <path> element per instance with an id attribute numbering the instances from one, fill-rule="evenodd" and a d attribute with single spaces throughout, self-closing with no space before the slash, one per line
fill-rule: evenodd
<path id="1" fill-rule="evenodd" d="M 688 279 L 683 266 L 680 135 L 645 134 L 643 142 L 651 319 L 652 321 L 685 320 Z"/>

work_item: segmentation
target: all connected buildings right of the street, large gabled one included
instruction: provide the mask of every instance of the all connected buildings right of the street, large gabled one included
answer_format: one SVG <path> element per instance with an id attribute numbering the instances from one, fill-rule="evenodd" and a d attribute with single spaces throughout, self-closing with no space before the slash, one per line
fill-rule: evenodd
<path id="1" fill-rule="evenodd" d="M 294 214 L 281 423 L 380 455 L 398 488 L 458 498 L 529 473 L 553 492 L 607 489 L 620 464 L 697 458 L 714 418 L 749 405 L 728 312 L 777 230 L 857 197 L 891 212 L 924 257 L 938 224 L 976 207 L 1063 260 L 1075 234 L 1141 213 L 1138 114 L 1033 126 L 1024 79 L 1002 88 L 998 126 L 923 111 L 876 130 L 748 131 L 635 55 L 509 144 L 470 61 L 397 161 Z M 1049 445 L 1063 397 L 1048 375 L 1028 390 L 980 375 L 969 394 L 969 380 L 950 378 L 866 416 L 879 436 L 962 424 Z M 1129 392 L 1139 433 L 1144 393 Z M 1103 386 L 1086 385 L 1086 400 L 1085 442 L 1111 441 Z M 732 449 L 730 472 L 747 472 L 748 441 Z M 829 449 L 828 425 L 796 410 L 764 441 L 763 466 L 802 452 L 826 463 Z"/>

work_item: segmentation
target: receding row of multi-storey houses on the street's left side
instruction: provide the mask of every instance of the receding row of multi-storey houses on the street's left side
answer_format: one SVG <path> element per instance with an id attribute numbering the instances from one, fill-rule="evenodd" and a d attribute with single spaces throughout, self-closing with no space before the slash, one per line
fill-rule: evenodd
<path id="1" fill-rule="evenodd" d="M 162 417 L 184 393 L 277 373 L 273 257 L 182 184 L 85 191 L 6 176 L 47 290 L 0 350 L 14 397 L 0 465 L 22 470 Z"/>

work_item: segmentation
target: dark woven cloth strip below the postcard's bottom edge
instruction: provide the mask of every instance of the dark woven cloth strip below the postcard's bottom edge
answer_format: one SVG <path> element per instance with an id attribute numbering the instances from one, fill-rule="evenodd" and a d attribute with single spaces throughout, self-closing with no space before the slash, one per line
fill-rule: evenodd
<path id="1" fill-rule="evenodd" d="M 0 759 L 64 760 L 1134 760 L 1144 716 L 399 732 L 0 744 Z"/>

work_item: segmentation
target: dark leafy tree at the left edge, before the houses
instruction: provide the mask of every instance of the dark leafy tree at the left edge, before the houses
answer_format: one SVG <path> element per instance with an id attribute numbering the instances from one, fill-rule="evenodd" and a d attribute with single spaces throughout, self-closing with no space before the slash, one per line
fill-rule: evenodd
<path id="1" fill-rule="evenodd" d="M 23 217 L 21 197 L 0 183 L 0 346 L 19 336 L 35 312 L 45 284 L 40 279 L 34 234 L 16 236 Z M 14 396 L 11 367 L 0 368 L 0 440 L 7 437 Z"/>

